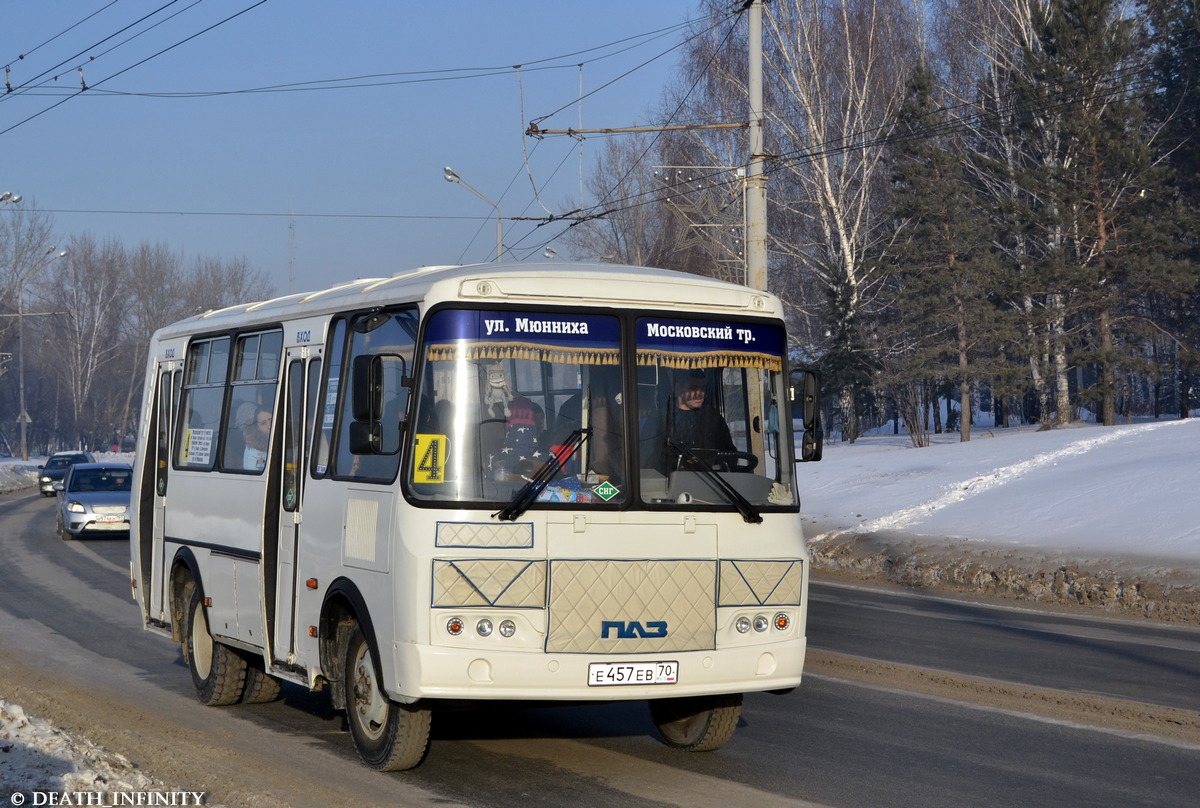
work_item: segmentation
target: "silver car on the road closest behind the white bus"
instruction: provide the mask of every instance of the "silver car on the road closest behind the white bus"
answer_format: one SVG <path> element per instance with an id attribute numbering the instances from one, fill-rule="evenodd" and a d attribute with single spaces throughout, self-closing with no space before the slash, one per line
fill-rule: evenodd
<path id="1" fill-rule="evenodd" d="M 130 532 L 130 483 L 133 469 L 127 463 L 76 463 L 59 492 L 59 538 L 84 534 Z"/>

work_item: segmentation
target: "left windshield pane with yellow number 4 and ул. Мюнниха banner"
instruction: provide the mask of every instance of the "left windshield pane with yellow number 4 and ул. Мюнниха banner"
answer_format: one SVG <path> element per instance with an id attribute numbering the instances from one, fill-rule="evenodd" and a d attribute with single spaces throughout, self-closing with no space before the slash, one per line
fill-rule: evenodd
<path id="1" fill-rule="evenodd" d="M 412 441 L 413 495 L 508 503 L 552 471 L 538 502 L 624 502 L 619 353 L 611 316 L 436 312 Z"/>

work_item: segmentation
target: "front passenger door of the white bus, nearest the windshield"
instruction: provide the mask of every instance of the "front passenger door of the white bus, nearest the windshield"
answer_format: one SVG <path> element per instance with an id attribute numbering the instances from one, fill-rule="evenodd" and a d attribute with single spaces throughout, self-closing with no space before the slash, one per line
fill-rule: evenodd
<path id="1" fill-rule="evenodd" d="M 319 348 L 288 348 L 283 388 L 283 450 L 280 484 L 280 534 L 275 575 L 275 627 L 272 658 L 294 664 L 296 636 L 295 615 L 300 532 L 304 523 L 305 468 L 312 439 L 312 421 L 317 409 L 320 379 Z"/>

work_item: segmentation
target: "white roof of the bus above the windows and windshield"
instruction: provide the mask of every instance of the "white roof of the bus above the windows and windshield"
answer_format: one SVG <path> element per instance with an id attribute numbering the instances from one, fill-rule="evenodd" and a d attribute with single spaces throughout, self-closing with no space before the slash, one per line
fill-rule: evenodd
<path id="1" fill-rule="evenodd" d="M 391 277 L 359 279 L 328 289 L 236 304 L 188 317 L 160 330 L 158 337 L 325 315 L 373 305 L 424 301 L 511 304 L 570 303 L 628 309 L 724 311 L 782 317 L 768 292 L 668 269 L 624 264 L 523 262 L 419 267 Z"/>

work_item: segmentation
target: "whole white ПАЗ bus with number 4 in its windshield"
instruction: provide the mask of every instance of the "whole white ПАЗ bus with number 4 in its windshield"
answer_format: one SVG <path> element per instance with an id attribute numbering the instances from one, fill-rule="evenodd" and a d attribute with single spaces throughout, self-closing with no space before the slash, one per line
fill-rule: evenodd
<path id="1" fill-rule="evenodd" d="M 792 409 L 816 460 L 818 396 L 786 346 L 764 292 L 556 263 L 169 325 L 134 469 L 144 626 L 204 704 L 328 688 L 378 770 L 480 700 L 647 700 L 668 746 L 715 749 L 804 664 Z"/>

